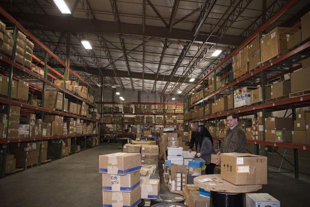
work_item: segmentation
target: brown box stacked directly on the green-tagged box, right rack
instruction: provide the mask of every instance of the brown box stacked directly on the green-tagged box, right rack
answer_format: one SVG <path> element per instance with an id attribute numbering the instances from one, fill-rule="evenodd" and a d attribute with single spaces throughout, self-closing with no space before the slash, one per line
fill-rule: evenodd
<path id="1" fill-rule="evenodd" d="M 266 129 L 293 130 L 293 118 L 269 117 L 265 118 Z"/>

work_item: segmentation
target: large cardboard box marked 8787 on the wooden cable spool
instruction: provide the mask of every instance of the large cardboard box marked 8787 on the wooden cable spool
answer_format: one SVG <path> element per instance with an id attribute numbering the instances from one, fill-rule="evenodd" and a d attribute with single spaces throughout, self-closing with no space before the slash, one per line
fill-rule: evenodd
<path id="1" fill-rule="evenodd" d="M 233 184 L 267 184 L 267 157 L 250 153 L 222 153 L 221 178 Z"/>

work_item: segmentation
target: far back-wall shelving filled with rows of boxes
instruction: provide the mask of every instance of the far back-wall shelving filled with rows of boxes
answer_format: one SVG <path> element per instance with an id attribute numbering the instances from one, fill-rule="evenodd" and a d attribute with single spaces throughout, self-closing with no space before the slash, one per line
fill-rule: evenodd
<path id="1" fill-rule="evenodd" d="M 183 129 L 183 103 L 103 102 L 103 114 L 106 134 Z"/>

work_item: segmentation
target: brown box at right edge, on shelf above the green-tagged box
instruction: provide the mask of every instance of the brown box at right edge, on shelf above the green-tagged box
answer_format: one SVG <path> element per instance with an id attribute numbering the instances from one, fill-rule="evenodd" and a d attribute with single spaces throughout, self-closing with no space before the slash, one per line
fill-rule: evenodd
<path id="1" fill-rule="evenodd" d="M 310 58 L 302 60 L 302 69 L 291 73 L 291 92 L 310 89 Z"/>

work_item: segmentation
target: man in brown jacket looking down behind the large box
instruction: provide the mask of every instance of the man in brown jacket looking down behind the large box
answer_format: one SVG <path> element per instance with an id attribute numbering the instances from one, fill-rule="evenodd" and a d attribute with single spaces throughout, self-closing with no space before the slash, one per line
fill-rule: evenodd
<path id="1" fill-rule="evenodd" d="M 229 124 L 229 129 L 226 131 L 226 137 L 224 139 L 223 148 L 220 149 L 217 156 L 217 163 L 221 163 L 221 152 L 246 152 L 246 133 L 243 131 L 242 127 L 238 122 L 238 113 L 232 112 L 227 115 L 227 123 Z"/>

